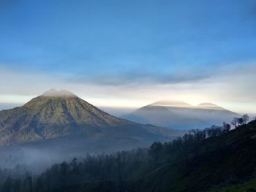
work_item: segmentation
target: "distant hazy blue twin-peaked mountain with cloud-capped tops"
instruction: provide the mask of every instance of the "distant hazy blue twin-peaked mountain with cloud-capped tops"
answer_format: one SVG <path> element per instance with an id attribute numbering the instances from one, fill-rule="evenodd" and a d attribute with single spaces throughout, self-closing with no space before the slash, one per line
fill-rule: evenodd
<path id="1" fill-rule="evenodd" d="M 184 101 L 162 100 L 122 115 L 121 118 L 167 128 L 192 129 L 206 128 L 223 121 L 230 122 L 235 116 L 239 115 L 216 104 L 203 103 L 192 106 Z"/>

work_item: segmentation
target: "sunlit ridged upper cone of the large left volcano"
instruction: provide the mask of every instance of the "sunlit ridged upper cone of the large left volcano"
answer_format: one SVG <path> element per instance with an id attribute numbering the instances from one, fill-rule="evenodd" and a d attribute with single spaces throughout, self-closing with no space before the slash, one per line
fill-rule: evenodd
<path id="1" fill-rule="evenodd" d="M 0 112 L 0 145 L 63 137 L 91 127 L 129 123 L 108 115 L 72 93 L 48 91 L 23 107 Z"/>

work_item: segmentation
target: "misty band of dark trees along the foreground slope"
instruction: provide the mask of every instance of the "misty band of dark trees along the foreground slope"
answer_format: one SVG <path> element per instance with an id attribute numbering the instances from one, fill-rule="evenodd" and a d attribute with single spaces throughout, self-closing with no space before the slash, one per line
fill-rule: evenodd
<path id="1" fill-rule="evenodd" d="M 234 118 L 222 126 L 203 130 L 193 129 L 183 137 L 170 142 L 154 142 L 148 148 L 120 151 L 112 154 L 87 155 L 86 158 L 53 164 L 45 172 L 33 175 L 26 166 L 0 169 L 1 192 L 44 192 L 59 188 L 65 191 L 81 183 L 97 183 L 99 191 L 124 191 L 129 180 L 143 177 L 163 164 L 170 164 L 200 153 L 206 139 L 227 134 L 231 127 L 238 128 L 249 120 L 248 115 Z"/>

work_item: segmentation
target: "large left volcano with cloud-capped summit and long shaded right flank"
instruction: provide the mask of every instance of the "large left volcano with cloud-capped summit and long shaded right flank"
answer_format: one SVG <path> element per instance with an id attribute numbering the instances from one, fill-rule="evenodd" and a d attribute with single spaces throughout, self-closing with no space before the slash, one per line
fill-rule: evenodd
<path id="1" fill-rule="evenodd" d="M 0 112 L 0 145 L 62 137 L 87 140 L 162 140 L 177 131 L 143 126 L 109 115 L 69 91 L 50 90 L 22 107 Z"/>

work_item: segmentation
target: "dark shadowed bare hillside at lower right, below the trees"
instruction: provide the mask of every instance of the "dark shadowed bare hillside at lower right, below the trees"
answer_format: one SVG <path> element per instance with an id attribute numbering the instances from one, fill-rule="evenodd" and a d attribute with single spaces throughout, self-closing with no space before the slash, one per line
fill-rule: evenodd
<path id="1" fill-rule="evenodd" d="M 256 121 L 219 137 L 206 139 L 188 155 L 155 169 L 132 191 L 209 191 L 255 178 Z"/>

